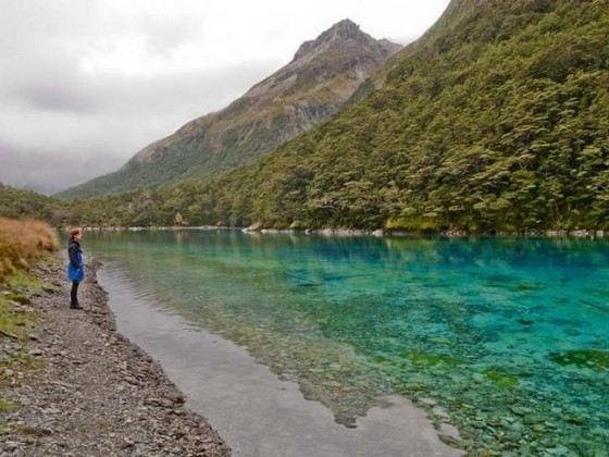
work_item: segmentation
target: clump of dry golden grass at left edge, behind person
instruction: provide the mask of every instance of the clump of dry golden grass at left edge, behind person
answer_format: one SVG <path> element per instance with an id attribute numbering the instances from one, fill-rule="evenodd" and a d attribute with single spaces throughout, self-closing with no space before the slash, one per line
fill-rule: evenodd
<path id="1" fill-rule="evenodd" d="M 0 218 L 0 283 L 58 246 L 55 231 L 45 222 Z"/>

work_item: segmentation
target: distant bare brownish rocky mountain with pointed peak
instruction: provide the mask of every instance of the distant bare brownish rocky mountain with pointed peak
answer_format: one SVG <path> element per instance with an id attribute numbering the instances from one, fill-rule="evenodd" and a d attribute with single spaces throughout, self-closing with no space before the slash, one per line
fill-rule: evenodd
<path id="1" fill-rule="evenodd" d="M 300 46 L 291 62 L 226 109 L 199 118 L 139 151 L 121 170 L 59 193 L 89 198 L 201 177 L 251 161 L 336 113 L 400 49 L 349 20 Z"/>

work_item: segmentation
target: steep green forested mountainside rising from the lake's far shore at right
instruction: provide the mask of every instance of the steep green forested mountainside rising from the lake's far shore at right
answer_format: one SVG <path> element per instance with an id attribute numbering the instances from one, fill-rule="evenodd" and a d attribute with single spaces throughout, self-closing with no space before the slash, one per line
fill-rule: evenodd
<path id="1" fill-rule="evenodd" d="M 213 180 L 90 202 L 98 222 L 609 230 L 606 0 L 452 1 L 380 88 Z M 96 212 L 97 211 L 97 212 Z"/>

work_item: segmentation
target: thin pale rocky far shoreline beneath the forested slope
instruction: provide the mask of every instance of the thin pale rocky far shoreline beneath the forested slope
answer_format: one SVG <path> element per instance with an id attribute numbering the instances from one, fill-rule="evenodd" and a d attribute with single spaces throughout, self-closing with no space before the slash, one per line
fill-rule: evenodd
<path id="1" fill-rule="evenodd" d="M 67 230 L 59 226 L 59 230 Z M 376 237 L 376 238 L 412 238 L 412 237 L 443 237 L 443 238 L 549 238 L 549 239 L 606 239 L 606 230 L 547 230 L 526 231 L 521 233 L 470 233 L 465 231 L 415 232 L 399 230 L 362 230 L 362 228 L 262 228 L 262 227 L 231 227 L 215 225 L 167 225 L 167 226 L 83 226 L 86 232 L 175 232 L 175 231 L 207 231 L 207 232 L 243 232 L 261 235 L 309 235 L 324 237 Z"/>

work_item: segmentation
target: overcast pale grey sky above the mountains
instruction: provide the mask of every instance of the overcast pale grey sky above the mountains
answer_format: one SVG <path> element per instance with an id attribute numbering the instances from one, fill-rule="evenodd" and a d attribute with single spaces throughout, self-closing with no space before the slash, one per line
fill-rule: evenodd
<path id="1" fill-rule="evenodd" d="M 349 17 L 405 44 L 448 0 L 2 0 L 0 182 L 53 193 L 215 111 Z"/>

